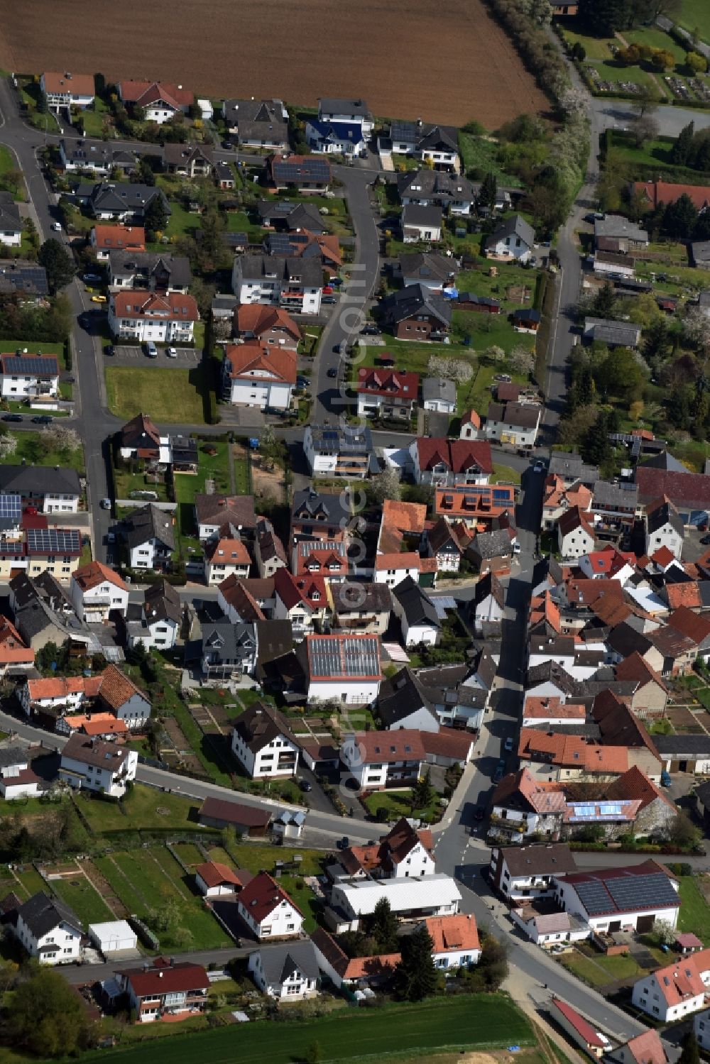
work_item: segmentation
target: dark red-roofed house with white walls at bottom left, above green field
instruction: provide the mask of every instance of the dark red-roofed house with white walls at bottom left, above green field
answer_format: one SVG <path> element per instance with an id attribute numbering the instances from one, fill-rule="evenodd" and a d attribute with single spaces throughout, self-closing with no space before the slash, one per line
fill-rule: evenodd
<path id="1" fill-rule="evenodd" d="M 123 968 L 115 977 L 138 1024 L 185 1018 L 207 1010 L 210 980 L 201 964 L 159 957 L 152 965 Z"/>

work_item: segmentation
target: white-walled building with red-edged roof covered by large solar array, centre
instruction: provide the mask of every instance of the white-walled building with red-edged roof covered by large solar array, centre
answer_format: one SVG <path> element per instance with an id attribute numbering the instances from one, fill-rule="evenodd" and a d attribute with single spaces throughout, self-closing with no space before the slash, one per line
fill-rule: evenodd
<path id="1" fill-rule="evenodd" d="M 382 680 L 377 635 L 307 635 L 296 654 L 309 702 L 371 705 L 376 700 Z"/>

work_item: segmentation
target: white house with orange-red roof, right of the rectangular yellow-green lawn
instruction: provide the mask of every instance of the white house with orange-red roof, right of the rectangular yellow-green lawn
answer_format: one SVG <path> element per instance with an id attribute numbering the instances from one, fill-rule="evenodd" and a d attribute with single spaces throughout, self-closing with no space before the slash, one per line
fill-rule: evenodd
<path id="1" fill-rule="evenodd" d="M 296 386 L 296 352 L 261 340 L 225 348 L 222 396 L 235 406 L 287 411 Z"/>

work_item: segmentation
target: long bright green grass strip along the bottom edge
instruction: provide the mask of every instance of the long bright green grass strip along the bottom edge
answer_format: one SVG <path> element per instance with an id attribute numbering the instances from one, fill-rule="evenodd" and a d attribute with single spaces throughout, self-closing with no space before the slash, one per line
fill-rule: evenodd
<path id="1" fill-rule="evenodd" d="M 321 1060 L 340 1062 L 381 1060 L 390 1054 L 419 1053 L 431 1058 L 437 1050 L 533 1045 L 523 1013 L 503 995 L 462 995 L 434 998 L 412 1005 L 385 1005 L 378 1010 L 339 1011 L 300 1024 L 252 1023 L 238 1029 L 216 1028 L 195 1035 L 174 1031 L 166 1042 L 116 1052 L 86 1053 L 86 1061 L 117 1064 L 192 1064 L 198 1057 L 211 1064 L 291 1064 L 303 1059 L 314 1042 Z M 238 1045 L 238 1050 L 235 1046 Z"/>

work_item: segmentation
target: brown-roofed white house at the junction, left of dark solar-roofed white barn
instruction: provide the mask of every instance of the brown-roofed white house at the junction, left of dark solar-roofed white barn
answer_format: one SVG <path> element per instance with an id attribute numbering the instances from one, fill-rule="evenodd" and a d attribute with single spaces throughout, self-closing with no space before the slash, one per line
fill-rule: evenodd
<path id="1" fill-rule="evenodd" d="M 494 846 L 491 850 L 491 882 L 513 903 L 549 896 L 554 877 L 573 871 L 577 862 L 566 843 Z"/>

